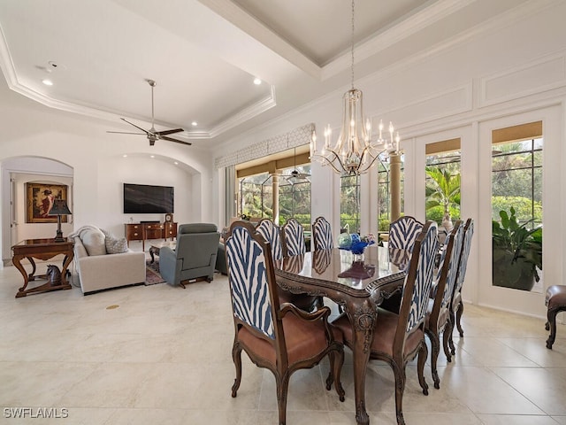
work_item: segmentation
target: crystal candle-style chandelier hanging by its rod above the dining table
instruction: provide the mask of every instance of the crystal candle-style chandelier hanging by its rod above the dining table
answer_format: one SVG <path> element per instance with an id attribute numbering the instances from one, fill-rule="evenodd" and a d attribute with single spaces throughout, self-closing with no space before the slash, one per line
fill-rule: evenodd
<path id="1" fill-rule="evenodd" d="M 336 143 L 332 143 L 330 124 L 325 128 L 325 143 L 317 151 L 317 134 L 313 131 L 310 142 L 310 158 L 323 166 L 332 166 L 333 170 L 342 175 L 359 175 L 370 171 L 371 166 L 381 153 L 388 155 L 399 153 L 399 133 L 394 135 L 393 123 L 384 132 L 383 121 L 379 122 L 379 136 L 372 135 L 371 120 L 363 116 L 362 91 L 354 88 L 354 11 L 352 0 L 352 88 L 342 97 L 342 128 Z M 389 133 L 384 138 L 384 133 Z M 374 140 L 373 140 L 374 139 Z"/>

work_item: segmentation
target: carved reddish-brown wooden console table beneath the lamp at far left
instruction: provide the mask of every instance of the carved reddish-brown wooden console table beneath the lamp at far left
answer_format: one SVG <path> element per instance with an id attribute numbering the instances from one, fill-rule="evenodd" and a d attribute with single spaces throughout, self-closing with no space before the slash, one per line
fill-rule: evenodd
<path id="1" fill-rule="evenodd" d="M 26 239 L 25 241 L 16 243 L 11 247 L 13 253 L 11 262 L 24 276 L 24 286 L 19 288 L 16 298 L 26 297 L 27 294 L 34 292 L 46 292 L 49 290 L 70 290 L 71 285 L 67 282 L 67 267 L 73 261 L 73 241 L 65 239 L 65 242 L 55 242 L 54 239 Z M 27 283 L 34 281 L 36 278 L 46 279 L 45 274 L 35 276 L 34 259 L 52 259 L 58 254 L 64 254 L 63 270 L 61 270 L 61 282 L 57 285 L 51 285 L 45 282 L 40 286 L 27 289 Z M 26 269 L 21 265 L 21 259 L 28 259 L 32 265 L 32 273 L 27 274 Z"/>

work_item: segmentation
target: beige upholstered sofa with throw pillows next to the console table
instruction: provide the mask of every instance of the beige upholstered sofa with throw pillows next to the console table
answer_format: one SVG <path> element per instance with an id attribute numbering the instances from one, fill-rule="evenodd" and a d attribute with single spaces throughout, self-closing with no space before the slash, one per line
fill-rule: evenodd
<path id="1" fill-rule="evenodd" d="M 128 249 L 126 239 L 104 234 L 94 226 L 80 228 L 70 236 L 84 295 L 145 282 L 145 253 Z"/>

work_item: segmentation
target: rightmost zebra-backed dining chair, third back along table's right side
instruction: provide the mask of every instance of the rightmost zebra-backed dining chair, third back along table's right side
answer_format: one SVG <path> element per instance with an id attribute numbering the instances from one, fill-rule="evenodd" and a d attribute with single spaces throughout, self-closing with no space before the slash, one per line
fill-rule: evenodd
<path id="1" fill-rule="evenodd" d="M 460 260 L 458 262 L 458 274 L 456 275 L 456 282 L 454 286 L 454 294 L 452 295 L 452 300 L 450 301 L 450 321 L 445 332 L 448 333 L 448 344 L 450 346 L 450 352 L 455 354 L 454 340 L 452 339 L 452 332 L 454 327 L 458 328 L 460 336 L 463 337 L 463 328 L 461 324 L 462 314 L 463 314 L 463 302 L 462 302 L 462 287 L 463 281 L 466 277 L 466 267 L 468 266 L 468 258 L 470 257 L 471 249 L 471 238 L 474 236 L 474 220 L 466 220 L 466 224 L 463 228 L 463 243 L 462 251 L 460 252 Z"/>

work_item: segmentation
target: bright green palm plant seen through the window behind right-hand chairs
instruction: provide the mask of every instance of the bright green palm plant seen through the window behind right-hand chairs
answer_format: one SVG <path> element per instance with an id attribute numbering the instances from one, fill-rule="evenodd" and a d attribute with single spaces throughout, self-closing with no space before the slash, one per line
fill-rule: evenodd
<path id="1" fill-rule="evenodd" d="M 441 206 L 443 221 L 451 221 L 450 207 L 460 205 L 460 173 L 450 174 L 436 166 L 427 166 L 425 171 L 432 179 L 425 188 L 426 210 Z"/>

